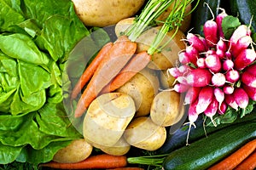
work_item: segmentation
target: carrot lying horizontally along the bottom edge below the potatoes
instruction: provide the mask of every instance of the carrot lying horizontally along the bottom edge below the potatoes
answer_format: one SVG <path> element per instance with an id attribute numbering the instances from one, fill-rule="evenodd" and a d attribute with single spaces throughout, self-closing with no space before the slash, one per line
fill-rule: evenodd
<path id="1" fill-rule="evenodd" d="M 56 161 L 49 161 L 40 164 L 39 167 L 51 167 L 58 169 L 90 169 L 90 168 L 117 168 L 125 167 L 127 165 L 126 156 L 111 156 L 108 154 L 90 156 L 84 161 L 77 163 L 59 163 Z"/>

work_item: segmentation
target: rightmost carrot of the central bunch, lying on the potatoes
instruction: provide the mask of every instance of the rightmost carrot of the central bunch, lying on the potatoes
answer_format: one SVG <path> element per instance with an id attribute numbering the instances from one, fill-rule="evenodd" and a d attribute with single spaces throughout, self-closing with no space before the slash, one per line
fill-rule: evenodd
<path id="1" fill-rule="evenodd" d="M 128 82 L 131 77 L 134 77 L 138 71 L 143 70 L 150 60 L 151 55 L 146 51 L 136 54 L 129 63 L 125 65 L 122 71 L 113 78 L 113 81 L 102 89 L 102 94 L 113 92 L 115 89 L 120 88 L 125 82 Z"/>

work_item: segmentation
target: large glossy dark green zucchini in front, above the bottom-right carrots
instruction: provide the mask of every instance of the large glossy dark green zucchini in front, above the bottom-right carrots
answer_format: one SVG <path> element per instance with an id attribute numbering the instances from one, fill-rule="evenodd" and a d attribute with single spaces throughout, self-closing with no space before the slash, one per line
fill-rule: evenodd
<path id="1" fill-rule="evenodd" d="M 229 156 L 247 141 L 256 138 L 256 121 L 237 124 L 172 151 L 163 162 L 167 169 L 207 169 Z"/>

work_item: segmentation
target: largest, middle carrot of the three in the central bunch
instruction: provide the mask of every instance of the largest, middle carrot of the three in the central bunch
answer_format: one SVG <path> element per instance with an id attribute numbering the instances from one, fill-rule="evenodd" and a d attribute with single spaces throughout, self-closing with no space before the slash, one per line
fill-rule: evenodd
<path id="1" fill-rule="evenodd" d="M 118 75 L 119 71 L 124 68 L 132 55 L 135 54 L 137 43 L 131 42 L 125 36 L 119 38 L 121 40 L 113 43 L 112 48 L 108 50 L 107 56 L 102 59 L 102 62 L 98 65 L 90 82 L 84 89 L 75 110 L 75 117 L 83 115 L 91 101 L 96 99 L 96 96 L 100 94 L 102 88 Z"/>

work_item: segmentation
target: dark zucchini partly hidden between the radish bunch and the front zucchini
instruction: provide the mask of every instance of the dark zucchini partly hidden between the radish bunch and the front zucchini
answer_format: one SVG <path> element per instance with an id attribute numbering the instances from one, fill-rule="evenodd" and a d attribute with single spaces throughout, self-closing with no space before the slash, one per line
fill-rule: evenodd
<path id="1" fill-rule="evenodd" d="M 189 133 L 189 144 L 195 142 L 198 139 L 202 139 L 206 137 L 207 135 L 217 132 L 218 130 L 229 127 L 232 125 L 235 125 L 237 123 L 246 123 L 247 121 L 256 120 L 256 114 L 248 114 L 242 118 L 237 118 L 235 122 L 232 123 L 224 123 L 220 124 L 217 127 L 203 127 L 203 118 L 200 116 L 197 121 L 195 122 L 196 128 L 191 127 L 190 133 Z M 177 129 L 177 131 L 173 134 L 168 134 L 166 138 L 165 144 L 163 144 L 160 149 L 155 150 L 155 154 L 162 155 L 172 152 L 173 150 L 177 150 L 178 148 L 181 148 L 186 145 L 186 139 L 188 134 L 188 126 L 183 126 Z"/>

